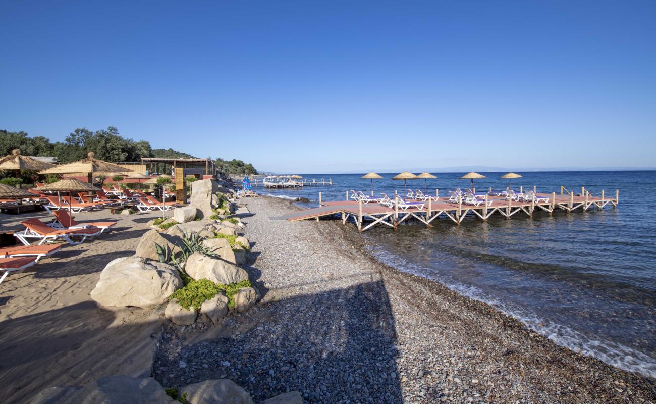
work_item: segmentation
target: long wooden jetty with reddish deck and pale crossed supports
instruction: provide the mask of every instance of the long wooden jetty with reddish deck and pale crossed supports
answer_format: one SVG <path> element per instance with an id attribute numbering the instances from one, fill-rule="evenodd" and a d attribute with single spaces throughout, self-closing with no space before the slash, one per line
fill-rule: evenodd
<path id="1" fill-rule="evenodd" d="M 562 192 L 562 191 L 561 191 Z M 304 210 L 301 212 L 289 213 L 281 217 L 288 221 L 300 221 L 307 219 L 316 219 L 319 217 L 341 215 L 342 224 L 346 224 L 349 218 L 352 218 L 358 227 L 358 231 L 369 230 L 376 225 L 388 226 L 396 229 L 404 221 L 416 220 L 424 225 L 431 226 L 431 222 L 438 217 L 448 217 L 457 225 L 460 225 L 466 217 L 478 217 L 487 220 L 493 213 L 499 213 L 506 219 L 512 215 L 523 212 L 529 217 L 533 216 L 535 210 L 543 210 L 552 215 L 557 210 L 564 210 L 566 213 L 573 212 L 577 209 L 586 211 L 590 208 L 602 210 L 604 206 L 611 204 L 613 208 L 619 203 L 619 190 L 613 197 L 608 198 L 605 192 L 601 196 L 593 196 L 590 192 L 582 189 L 581 194 L 575 195 L 574 192 L 568 194 L 544 194 L 536 192 L 539 202 L 531 200 L 529 202 L 518 202 L 505 198 L 504 196 L 485 195 L 481 199 L 483 203 L 479 206 L 464 204 L 462 198 L 458 202 L 449 202 L 449 198 L 441 197 L 438 200 L 428 199 L 421 208 L 411 207 L 402 210 L 398 204 L 394 208 L 383 206 L 377 202 L 364 203 L 361 200 L 342 200 L 342 201 L 321 201 L 321 192 L 319 192 L 319 207 Z M 348 198 L 348 192 L 346 194 Z M 395 199 L 401 198 L 395 194 Z M 435 197 L 433 197 L 435 198 Z M 408 202 L 417 202 L 416 200 L 405 199 Z M 468 214 L 471 213 L 471 214 Z"/>

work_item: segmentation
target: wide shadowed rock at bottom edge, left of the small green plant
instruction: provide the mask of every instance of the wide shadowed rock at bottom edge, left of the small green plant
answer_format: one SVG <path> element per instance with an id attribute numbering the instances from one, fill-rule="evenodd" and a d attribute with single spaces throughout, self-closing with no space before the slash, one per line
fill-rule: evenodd
<path id="1" fill-rule="evenodd" d="M 75 393 L 70 401 L 76 404 L 163 404 L 177 403 L 166 395 L 161 384 L 154 378 L 108 376 L 91 382 Z"/>

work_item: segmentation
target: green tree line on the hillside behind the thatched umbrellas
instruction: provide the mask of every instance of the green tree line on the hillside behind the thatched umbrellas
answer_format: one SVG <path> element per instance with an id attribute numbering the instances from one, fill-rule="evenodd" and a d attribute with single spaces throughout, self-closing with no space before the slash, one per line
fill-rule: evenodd
<path id="1" fill-rule="evenodd" d="M 24 131 L 0 130 L 0 156 L 10 154 L 15 148 L 19 148 L 21 154 L 26 156 L 54 156 L 62 164 L 85 158 L 88 152 L 94 152 L 100 160 L 113 163 L 139 162 L 142 157 L 195 158 L 171 148 L 154 149 L 148 141 L 127 139 L 113 126 L 98 131 L 90 131 L 86 127 L 77 128 L 63 142 L 54 143 L 45 136 L 30 137 Z M 224 173 L 257 173 L 253 164 L 245 164 L 241 160 L 216 158 L 215 162 Z"/>

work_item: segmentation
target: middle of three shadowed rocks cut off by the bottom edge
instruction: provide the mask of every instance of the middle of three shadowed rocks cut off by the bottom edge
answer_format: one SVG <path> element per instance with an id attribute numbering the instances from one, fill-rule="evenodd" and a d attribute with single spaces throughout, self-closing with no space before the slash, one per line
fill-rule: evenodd
<path id="1" fill-rule="evenodd" d="M 185 393 L 191 404 L 253 404 L 251 395 L 229 379 L 190 384 L 180 390 L 180 395 Z"/>

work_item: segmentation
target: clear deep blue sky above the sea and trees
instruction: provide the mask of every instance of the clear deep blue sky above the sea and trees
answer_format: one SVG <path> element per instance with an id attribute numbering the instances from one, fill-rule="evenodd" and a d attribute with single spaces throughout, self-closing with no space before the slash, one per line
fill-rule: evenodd
<path id="1" fill-rule="evenodd" d="M 277 172 L 656 166 L 656 1 L 3 1 L 0 129 Z"/>

